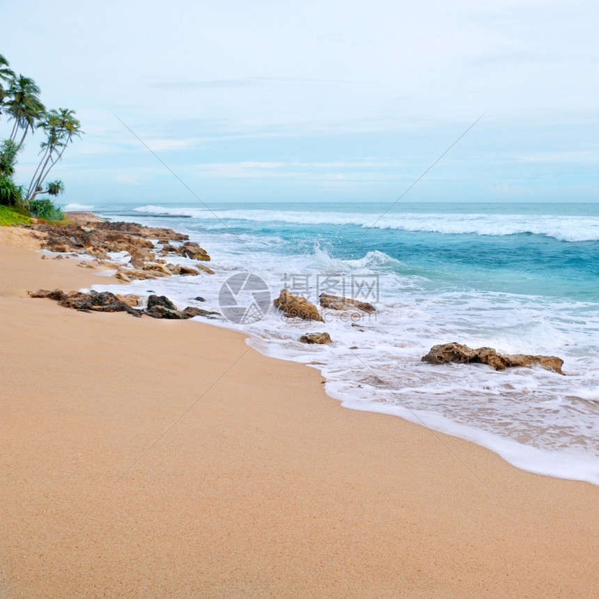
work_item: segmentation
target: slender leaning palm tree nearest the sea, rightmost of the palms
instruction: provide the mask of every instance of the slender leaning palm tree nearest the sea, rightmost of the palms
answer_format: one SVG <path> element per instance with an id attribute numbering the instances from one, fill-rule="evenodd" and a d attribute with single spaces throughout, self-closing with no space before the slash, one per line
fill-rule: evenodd
<path id="1" fill-rule="evenodd" d="M 29 183 L 26 196 L 28 202 L 42 192 L 42 183 L 52 170 L 52 166 L 63 157 L 68 143 L 72 143 L 73 137 L 81 137 L 83 133 L 81 123 L 75 118 L 75 111 L 66 108 L 49 111 L 38 127 L 45 131 L 47 139 L 40 144 L 42 158 Z"/>

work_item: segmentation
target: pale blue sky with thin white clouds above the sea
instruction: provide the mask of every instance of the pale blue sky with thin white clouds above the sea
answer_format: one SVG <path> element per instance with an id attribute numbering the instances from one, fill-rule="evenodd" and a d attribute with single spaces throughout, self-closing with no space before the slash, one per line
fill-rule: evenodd
<path id="1" fill-rule="evenodd" d="M 599 202 L 594 1 L 21 0 L 1 18 L 0 54 L 85 132 L 52 172 L 63 205 L 196 201 L 180 180 L 208 205 L 393 202 L 433 164 L 402 201 Z"/>

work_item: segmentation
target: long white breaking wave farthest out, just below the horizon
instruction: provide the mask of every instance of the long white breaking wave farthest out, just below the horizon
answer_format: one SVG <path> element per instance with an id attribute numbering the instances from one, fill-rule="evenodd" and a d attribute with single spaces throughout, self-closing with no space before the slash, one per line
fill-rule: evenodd
<path id="1" fill-rule="evenodd" d="M 599 217 L 554 215 L 485 215 L 485 214 L 403 214 L 381 216 L 359 212 L 299 212 L 293 210 L 210 210 L 166 208 L 146 205 L 135 208 L 148 215 L 240 220 L 258 223 L 300 225 L 355 225 L 361 228 L 396 229 L 444 235 L 505 236 L 518 234 L 545 235 L 559 241 L 599 241 Z"/>

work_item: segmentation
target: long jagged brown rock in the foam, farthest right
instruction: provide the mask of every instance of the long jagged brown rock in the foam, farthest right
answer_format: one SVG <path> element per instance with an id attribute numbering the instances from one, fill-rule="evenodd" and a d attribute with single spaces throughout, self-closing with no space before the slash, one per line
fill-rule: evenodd
<path id="1" fill-rule="evenodd" d="M 472 349 L 461 343 L 444 343 L 435 345 L 430 349 L 422 361 L 429 364 L 442 364 L 444 362 L 456 362 L 456 364 L 488 364 L 495 370 L 502 371 L 505 368 L 515 366 L 534 366 L 540 364 L 546 370 L 555 371 L 561 375 L 563 360 L 555 356 L 529 356 L 524 354 L 502 355 L 493 348 Z"/>

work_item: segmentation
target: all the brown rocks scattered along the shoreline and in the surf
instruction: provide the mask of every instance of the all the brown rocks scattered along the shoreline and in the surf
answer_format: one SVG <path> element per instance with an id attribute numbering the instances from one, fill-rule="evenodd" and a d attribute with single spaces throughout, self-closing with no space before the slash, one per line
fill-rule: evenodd
<path id="1" fill-rule="evenodd" d="M 149 227 L 130 222 L 109 222 L 91 212 L 69 213 L 69 217 L 72 217 L 72 222 L 69 224 L 33 224 L 28 228 L 42 239 L 44 249 L 72 256 L 88 254 L 94 258 L 91 267 L 114 268 L 116 279 L 125 283 L 130 283 L 134 279 L 157 279 L 173 275 L 198 276 L 201 272 L 214 274 L 210 267 L 201 264 L 210 261 L 208 252 L 198 243 L 190 241 L 189 236 L 183 233 L 177 233 L 169 228 Z M 125 256 L 130 256 L 127 265 L 114 263 L 109 252 L 125 252 Z M 169 257 L 175 256 L 195 260 L 194 267 L 168 260 Z M 64 293 L 60 289 L 40 289 L 29 292 L 29 295 L 55 299 L 61 306 L 88 312 L 125 311 L 137 317 L 146 315 L 171 320 L 185 320 L 195 316 L 206 318 L 221 316 L 215 311 L 199 309 L 196 306 L 187 306 L 185 309 L 178 310 L 169 298 L 157 295 L 150 295 L 146 306 L 143 306 L 144 301 L 137 295 L 114 295 L 109 292 Z M 317 306 L 304 297 L 293 295 L 288 289 L 281 290 L 279 297 L 274 299 L 273 303 L 287 318 L 325 322 Z M 358 318 L 359 313 L 375 311 L 375 307 L 367 302 L 326 293 L 320 295 L 319 303 L 325 309 L 350 311 L 352 316 Z M 327 332 L 306 333 L 299 338 L 299 341 L 317 345 L 333 343 Z M 422 361 L 429 364 L 447 362 L 486 364 L 496 370 L 538 364 L 563 375 L 561 370 L 563 360 L 559 357 L 501 355 L 493 348 L 474 350 L 456 342 L 435 345 L 426 356 L 422 357 Z"/>

